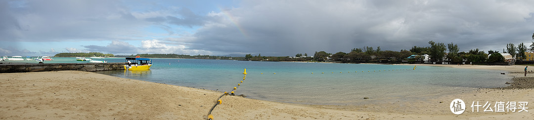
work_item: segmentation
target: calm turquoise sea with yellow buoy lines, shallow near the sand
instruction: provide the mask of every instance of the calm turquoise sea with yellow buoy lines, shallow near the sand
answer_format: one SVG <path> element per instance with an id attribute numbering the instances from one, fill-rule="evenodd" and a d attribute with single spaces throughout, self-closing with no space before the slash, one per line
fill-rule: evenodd
<path id="1" fill-rule="evenodd" d="M 88 62 L 53 59 L 45 63 Z M 125 62 L 124 58 L 101 60 Z M 424 100 L 465 90 L 504 87 L 511 81 L 500 70 L 435 66 L 157 58 L 152 63 L 150 70 L 94 73 L 221 92 L 230 92 L 240 84 L 236 95 L 307 105 Z"/>

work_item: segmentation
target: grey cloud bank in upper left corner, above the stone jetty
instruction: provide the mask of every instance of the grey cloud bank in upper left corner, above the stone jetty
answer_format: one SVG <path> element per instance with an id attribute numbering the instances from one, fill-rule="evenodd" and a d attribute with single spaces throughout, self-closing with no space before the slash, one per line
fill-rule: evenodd
<path id="1" fill-rule="evenodd" d="M 148 8 L 132 8 L 136 6 Z M 24 42 L 140 41 L 159 35 L 147 31 L 148 27 L 158 26 L 175 34 L 176 26 L 202 26 L 203 19 L 208 19 L 186 7 L 106 0 L 1 1 L 0 17 L 0 41 Z"/>

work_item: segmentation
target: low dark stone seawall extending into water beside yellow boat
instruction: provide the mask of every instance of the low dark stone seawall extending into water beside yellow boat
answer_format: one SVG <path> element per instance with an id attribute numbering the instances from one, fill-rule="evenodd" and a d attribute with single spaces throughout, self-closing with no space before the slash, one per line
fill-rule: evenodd
<path id="1" fill-rule="evenodd" d="M 38 64 L 0 64 L 0 73 L 24 73 L 34 71 L 105 71 L 123 70 L 123 62 L 112 63 L 38 63 Z"/>

